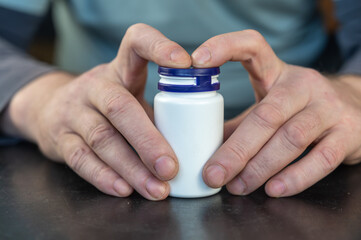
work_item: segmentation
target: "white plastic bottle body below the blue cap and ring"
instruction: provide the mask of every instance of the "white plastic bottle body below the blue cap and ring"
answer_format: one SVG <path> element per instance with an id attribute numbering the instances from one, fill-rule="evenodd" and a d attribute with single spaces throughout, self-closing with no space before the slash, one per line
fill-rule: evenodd
<path id="1" fill-rule="evenodd" d="M 160 92 L 154 99 L 155 124 L 179 162 L 169 181 L 170 196 L 195 198 L 220 191 L 202 177 L 205 163 L 223 142 L 223 97 L 210 92 Z"/>

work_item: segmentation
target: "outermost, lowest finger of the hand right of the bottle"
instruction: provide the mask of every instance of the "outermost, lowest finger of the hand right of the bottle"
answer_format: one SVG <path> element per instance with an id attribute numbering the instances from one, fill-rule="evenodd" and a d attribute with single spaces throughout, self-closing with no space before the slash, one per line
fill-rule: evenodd
<path id="1" fill-rule="evenodd" d="M 265 186 L 267 194 L 272 197 L 295 195 L 327 176 L 345 158 L 346 139 L 344 131 L 331 132 L 305 157 L 272 177 Z"/>

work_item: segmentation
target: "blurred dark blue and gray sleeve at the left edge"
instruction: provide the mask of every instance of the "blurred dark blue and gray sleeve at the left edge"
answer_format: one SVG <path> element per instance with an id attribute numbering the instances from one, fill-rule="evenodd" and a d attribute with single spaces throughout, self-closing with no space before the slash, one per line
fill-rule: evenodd
<path id="1" fill-rule="evenodd" d="M 0 6 L 0 113 L 21 87 L 54 70 L 25 53 L 43 15 Z"/>

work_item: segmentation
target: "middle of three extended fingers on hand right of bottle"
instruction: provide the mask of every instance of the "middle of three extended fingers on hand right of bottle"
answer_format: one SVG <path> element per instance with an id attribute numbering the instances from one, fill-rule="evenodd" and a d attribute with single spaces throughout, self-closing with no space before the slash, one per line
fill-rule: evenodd
<path id="1" fill-rule="evenodd" d="M 300 156 L 336 119 L 322 104 L 308 106 L 285 123 L 246 167 L 227 184 L 229 192 L 245 195 Z"/>

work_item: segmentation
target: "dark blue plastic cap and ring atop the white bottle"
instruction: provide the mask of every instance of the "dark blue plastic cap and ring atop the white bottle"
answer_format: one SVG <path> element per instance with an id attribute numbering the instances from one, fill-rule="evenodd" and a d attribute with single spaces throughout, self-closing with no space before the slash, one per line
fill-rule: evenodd
<path id="1" fill-rule="evenodd" d="M 160 76 L 196 78 L 196 84 L 177 85 L 158 82 L 158 89 L 166 92 L 208 92 L 219 90 L 219 82 L 212 83 L 212 76 L 219 75 L 219 67 L 213 68 L 158 68 Z"/>

